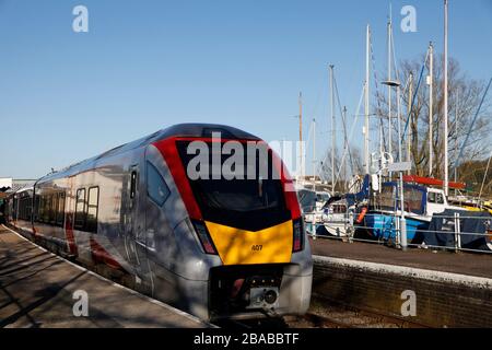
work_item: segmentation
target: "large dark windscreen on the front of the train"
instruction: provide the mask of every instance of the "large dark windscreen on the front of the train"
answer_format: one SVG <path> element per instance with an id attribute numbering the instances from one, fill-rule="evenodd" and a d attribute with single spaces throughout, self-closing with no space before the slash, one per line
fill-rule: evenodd
<path id="1" fill-rule="evenodd" d="M 247 152 L 244 152 L 242 161 L 231 166 L 231 154 L 222 154 L 221 148 L 212 148 L 212 142 L 206 142 L 209 154 L 202 158 L 208 160 L 203 164 L 197 162 L 197 156 L 202 154 L 188 154 L 189 143 L 177 141 L 176 145 L 204 220 L 235 226 L 239 223 L 248 230 L 289 220 L 282 184 L 272 166 L 270 152 L 265 159 L 256 154 L 253 162 L 247 162 Z M 220 160 L 221 174 L 212 166 L 212 160 Z M 261 164 L 262 160 L 266 164 Z M 261 174 L 260 165 L 267 167 L 268 174 Z M 199 178 L 190 176 L 192 171 L 200 173 Z"/>

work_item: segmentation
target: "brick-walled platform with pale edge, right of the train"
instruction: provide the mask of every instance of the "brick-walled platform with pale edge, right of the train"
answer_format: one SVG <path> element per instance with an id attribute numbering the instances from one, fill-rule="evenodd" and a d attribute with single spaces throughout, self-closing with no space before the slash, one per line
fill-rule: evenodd
<path id="1" fill-rule="evenodd" d="M 309 240 L 313 295 L 427 327 L 492 327 L 492 256 Z"/>

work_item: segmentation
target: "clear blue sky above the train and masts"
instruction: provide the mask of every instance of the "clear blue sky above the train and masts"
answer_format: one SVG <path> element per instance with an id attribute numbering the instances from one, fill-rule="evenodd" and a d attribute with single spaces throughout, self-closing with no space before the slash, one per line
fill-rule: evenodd
<path id="1" fill-rule="evenodd" d="M 89 32 L 75 33 L 75 5 Z M 417 32 L 403 33 L 403 5 Z M 398 61 L 443 48 L 443 0 L 391 1 Z M 329 139 L 328 65 L 349 127 L 371 24 L 386 70 L 389 1 L 0 0 L 0 177 L 36 178 L 178 122 L 218 122 L 267 141 Z M 449 56 L 492 77 L 492 1 L 449 0 Z M 337 130 L 339 140 L 341 130 Z M 361 141 L 360 125 L 352 138 Z M 308 150 L 308 152 L 311 152 Z M 311 162 L 308 156 L 307 162 Z"/>

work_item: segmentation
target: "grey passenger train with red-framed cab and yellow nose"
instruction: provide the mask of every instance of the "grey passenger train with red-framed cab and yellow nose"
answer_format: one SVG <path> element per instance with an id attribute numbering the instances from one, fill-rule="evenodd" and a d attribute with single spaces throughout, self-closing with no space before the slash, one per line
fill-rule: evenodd
<path id="1" fill-rule="evenodd" d="M 52 172 L 11 195 L 5 217 L 55 254 L 201 319 L 309 307 L 312 254 L 289 172 L 230 126 L 171 126 Z"/>

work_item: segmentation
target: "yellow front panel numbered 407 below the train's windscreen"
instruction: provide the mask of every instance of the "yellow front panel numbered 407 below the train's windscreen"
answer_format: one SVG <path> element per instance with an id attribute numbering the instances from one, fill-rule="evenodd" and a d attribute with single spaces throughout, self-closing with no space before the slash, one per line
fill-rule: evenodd
<path id="1" fill-rule="evenodd" d="M 224 265 L 290 262 L 292 221 L 260 231 L 246 231 L 206 221 Z"/>

